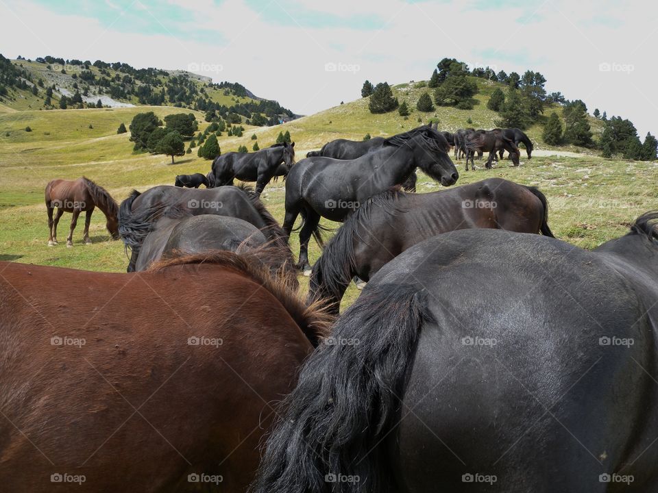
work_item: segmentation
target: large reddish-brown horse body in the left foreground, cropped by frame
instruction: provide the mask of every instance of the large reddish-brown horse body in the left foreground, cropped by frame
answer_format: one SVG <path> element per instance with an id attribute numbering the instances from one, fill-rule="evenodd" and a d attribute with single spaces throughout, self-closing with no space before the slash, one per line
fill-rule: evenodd
<path id="1" fill-rule="evenodd" d="M 275 404 L 330 324 L 256 253 L 0 272 L 7 492 L 245 491 Z"/>

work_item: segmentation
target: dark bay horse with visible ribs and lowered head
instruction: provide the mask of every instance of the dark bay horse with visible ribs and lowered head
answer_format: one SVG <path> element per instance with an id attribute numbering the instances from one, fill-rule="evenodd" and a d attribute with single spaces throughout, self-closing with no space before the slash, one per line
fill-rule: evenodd
<path id="1" fill-rule="evenodd" d="M 489 178 L 440 192 L 388 190 L 359 207 L 315 262 L 308 299 L 326 299 L 334 313 L 350 280 L 367 281 L 413 245 L 456 229 L 498 228 L 554 238 L 548 202 L 535 187 Z"/>

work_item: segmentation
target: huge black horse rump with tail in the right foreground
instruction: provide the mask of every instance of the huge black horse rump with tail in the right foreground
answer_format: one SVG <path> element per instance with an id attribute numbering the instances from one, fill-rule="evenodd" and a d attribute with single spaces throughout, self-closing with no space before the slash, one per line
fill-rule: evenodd
<path id="1" fill-rule="evenodd" d="M 657 219 L 402 253 L 304 365 L 254 493 L 658 491 Z"/>

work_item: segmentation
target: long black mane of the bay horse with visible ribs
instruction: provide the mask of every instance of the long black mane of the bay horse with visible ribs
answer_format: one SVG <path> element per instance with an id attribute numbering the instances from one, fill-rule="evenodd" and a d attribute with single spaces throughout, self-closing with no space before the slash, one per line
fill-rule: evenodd
<path id="1" fill-rule="evenodd" d="M 356 270 L 356 257 L 354 255 L 354 236 L 358 236 L 358 229 L 362 225 L 370 229 L 370 216 L 377 207 L 387 214 L 399 211 L 395 201 L 404 197 L 406 192 L 400 186 L 395 186 L 370 197 L 365 204 L 358 207 L 329 240 L 322 251 L 310 274 L 310 287 L 308 301 L 312 302 L 328 294 L 330 303 L 339 303 L 345 288 Z M 336 312 L 337 306 L 332 305 Z"/>

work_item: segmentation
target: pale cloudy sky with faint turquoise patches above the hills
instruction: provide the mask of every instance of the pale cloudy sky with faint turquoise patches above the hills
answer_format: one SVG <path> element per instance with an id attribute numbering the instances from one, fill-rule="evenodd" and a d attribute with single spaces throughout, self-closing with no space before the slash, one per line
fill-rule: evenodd
<path id="1" fill-rule="evenodd" d="M 448 57 L 539 71 L 549 92 L 658 133 L 649 1 L 0 0 L 0 18 L 8 58 L 193 68 L 297 114 L 360 97 L 365 79 L 428 79 Z"/>

